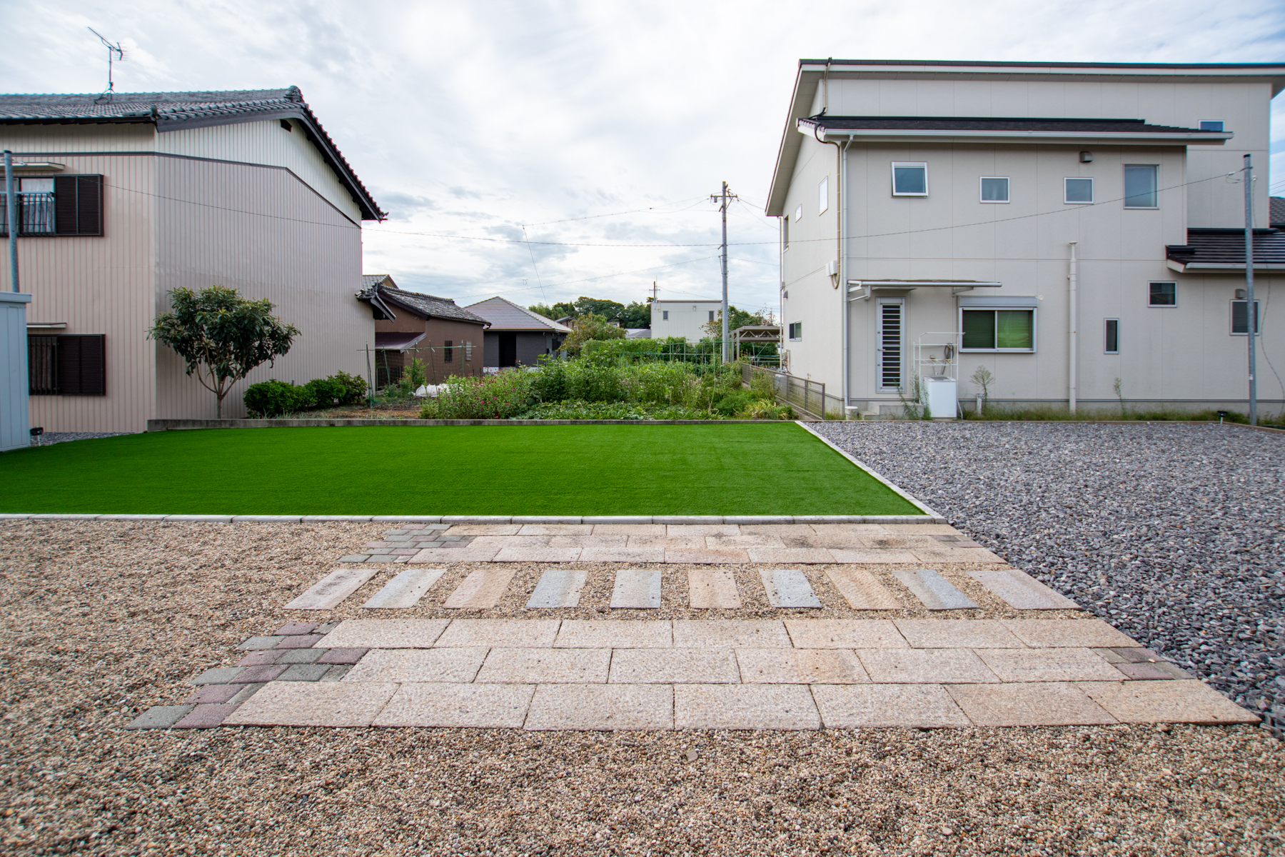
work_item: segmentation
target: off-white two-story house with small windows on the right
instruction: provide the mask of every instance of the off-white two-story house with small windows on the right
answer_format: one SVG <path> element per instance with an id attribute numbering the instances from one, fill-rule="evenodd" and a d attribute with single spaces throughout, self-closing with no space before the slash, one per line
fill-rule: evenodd
<path id="1" fill-rule="evenodd" d="M 1280 411 L 1282 87 L 1285 66 L 802 60 L 767 204 L 790 373 L 871 415 L 928 375 L 969 407 L 983 366 L 995 402 L 1101 409 L 1119 379 L 1133 403 L 1244 411 L 1250 154 L 1258 396 Z"/>

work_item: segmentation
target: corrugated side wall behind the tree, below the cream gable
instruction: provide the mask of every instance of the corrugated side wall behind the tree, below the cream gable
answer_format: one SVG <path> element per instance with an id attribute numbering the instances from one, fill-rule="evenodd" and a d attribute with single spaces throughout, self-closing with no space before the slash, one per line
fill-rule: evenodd
<path id="1" fill-rule="evenodd" d="M 301 330 L 290 353 L 235 385 L 224 416 L 244 416 L 245 387 L 269 378 L 302 384 L 341 369 L 365 376 L 374 320 L 355 297 L 361 230 L 283 170 L 157 161 L 157 312 L 167 308 L 170 289 L 217 284 L 269 298 Z M 186 199 L 200 204 L 180 202 Z M 215 396 L 164 347 L 157 349 L 155 416 L 215 416 Z"/>

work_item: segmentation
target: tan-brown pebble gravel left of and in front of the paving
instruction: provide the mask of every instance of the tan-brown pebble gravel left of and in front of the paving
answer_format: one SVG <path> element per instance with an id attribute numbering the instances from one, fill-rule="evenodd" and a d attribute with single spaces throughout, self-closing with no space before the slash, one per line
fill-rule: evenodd
<path id="1" fill-rule="evenodd" d="M 121 727 L 373 524 L 0 523 L 6 854 L 1254 854 L 1254 727 Z M 504 605 L 501 605 L 504 606 Z M 297 615 L 297 614 L 296 614 Z"/>

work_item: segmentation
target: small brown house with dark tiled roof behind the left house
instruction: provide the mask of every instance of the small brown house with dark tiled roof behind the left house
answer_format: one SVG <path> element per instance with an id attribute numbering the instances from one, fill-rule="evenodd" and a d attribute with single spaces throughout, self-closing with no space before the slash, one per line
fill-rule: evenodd
<path id="1" fill-rule="evenodd" d="M 357 299 L 375 319 L 375 387 L 400 380 L 415 358 L 429 384 L 482 374 L 482 331 L 490 326 L 482 316 L 450 298 L 403 292 L 387 274 L 362 274 Z"/>

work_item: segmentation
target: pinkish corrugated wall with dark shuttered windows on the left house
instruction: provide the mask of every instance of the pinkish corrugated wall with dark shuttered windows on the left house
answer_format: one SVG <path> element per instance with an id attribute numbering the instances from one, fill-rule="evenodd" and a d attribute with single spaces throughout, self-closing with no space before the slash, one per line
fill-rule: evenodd
<path id="1" fill-rule="evenodd" d="M 95 141 L 72 134 L 69 140 L 82 144 L 81 149 L 107 150 L 121 136 L 104 134 Z M 139 135 L 132 139 L 140 141 Z M 60 140 L 46 143 L 50 145 L 45 153 L 58 152 L 54 145 Z M 19 154 L 27 157 L 26 152 Z M 145 337 L 155 303 L 152 287 L 155 158 L 64 153 L 51 159 L 66 166 L 64 175 L 103 176 L 104 235 L 18 239 L 18 281 L 23 292 L 33 296 L 27 322 L 67 324 L 66 330 L 50 333 L 105 334 L 107 396 L 32 396 L 31 424 L 46 432 L 141 432 L 155 398 L 154 346 Z M 9 267 L 0 267 L 4 269 L 0 288 L 9 290 Z"/>

